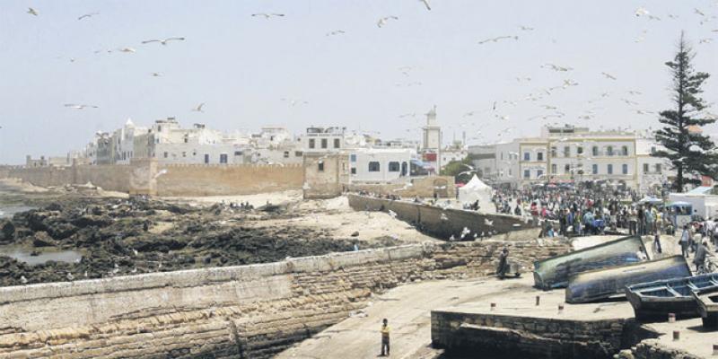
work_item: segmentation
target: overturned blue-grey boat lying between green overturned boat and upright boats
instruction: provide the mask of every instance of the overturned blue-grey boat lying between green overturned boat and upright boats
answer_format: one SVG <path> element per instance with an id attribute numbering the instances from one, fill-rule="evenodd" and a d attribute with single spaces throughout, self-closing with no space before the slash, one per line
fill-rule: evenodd
<path id="1" fill-rule="evenodd" d="M 570 303 L 594 302 L 625 293 L 626 285 L 690 275 L 690 267 L 683 256 L 591 270 L 571 276 L 565 291 L 565 301 Z"/>

